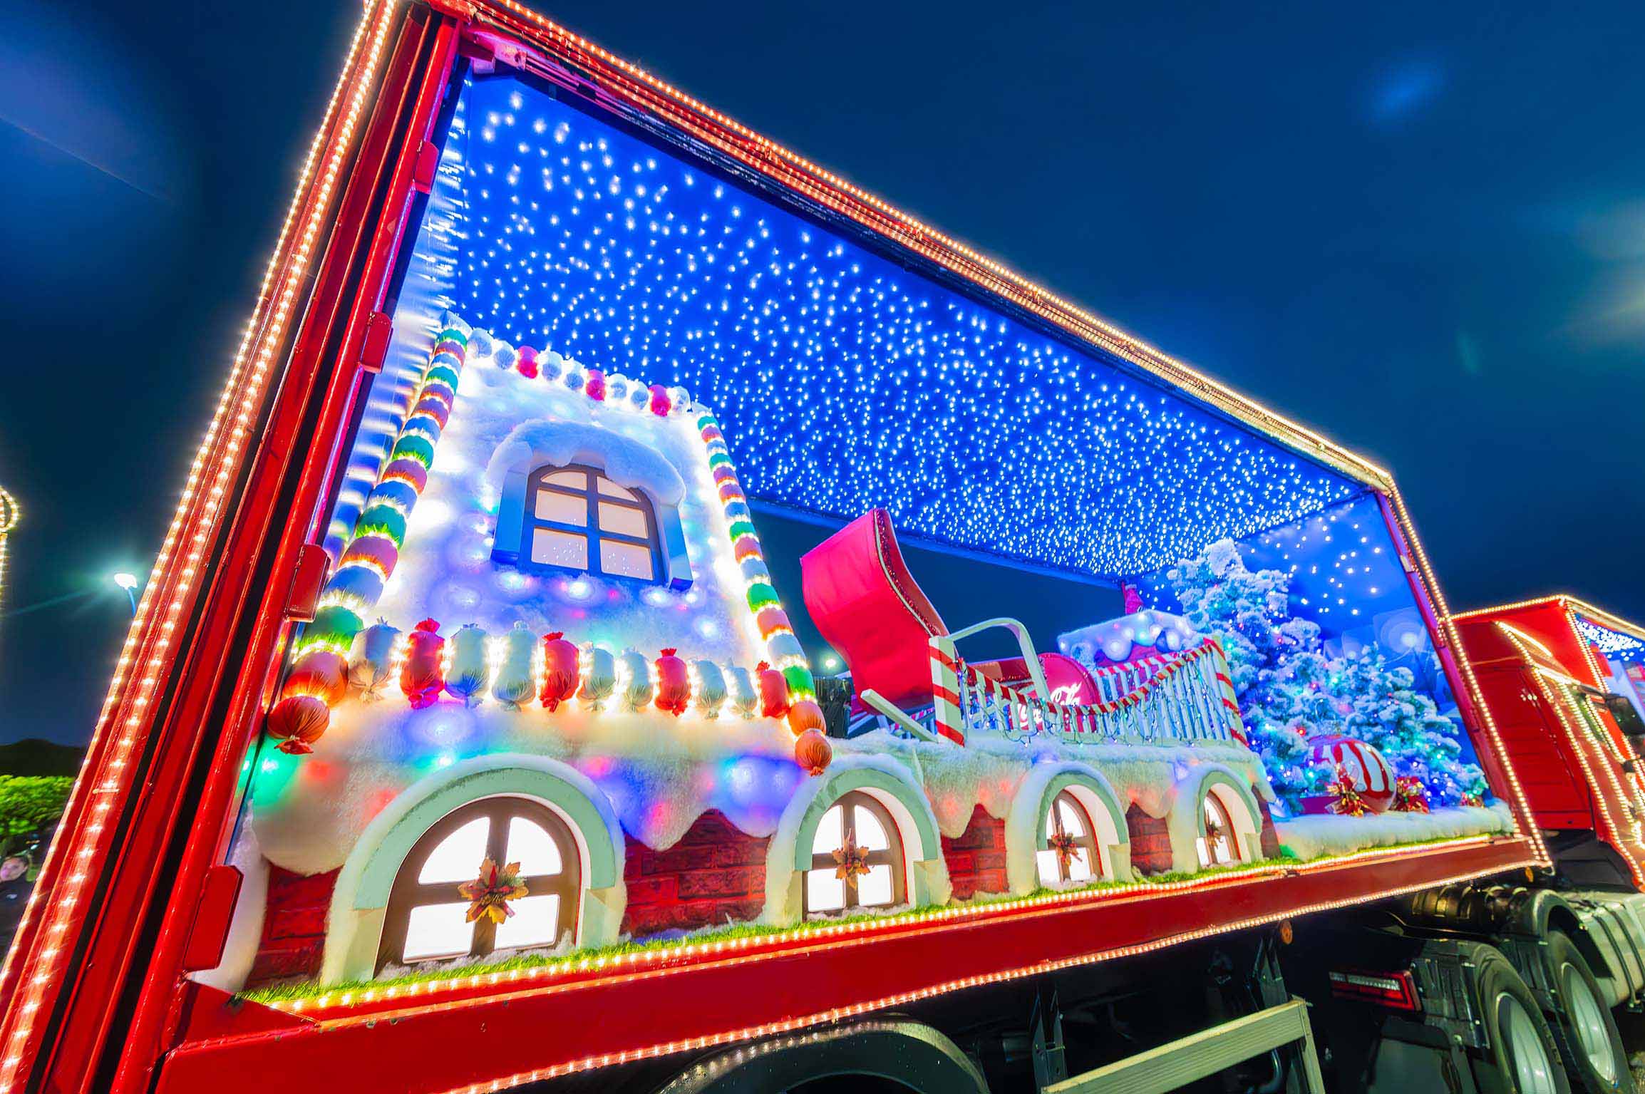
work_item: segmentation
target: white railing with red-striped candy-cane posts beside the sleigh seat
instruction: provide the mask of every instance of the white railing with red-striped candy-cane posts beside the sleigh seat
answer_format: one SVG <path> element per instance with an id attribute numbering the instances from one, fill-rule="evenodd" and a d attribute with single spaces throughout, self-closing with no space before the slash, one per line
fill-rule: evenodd
<path id="1" fill-rule="evenodd" d="M 931 640 L 934 727 L 954 744 L 975 732 L 1054 734 L 1074 744 L 1245 740 L 1227 656 L 1214 638 L 1181 653 L 1092 670 L 1097 702 L 1056 702 L 979 673 L 946 637 Z"/>

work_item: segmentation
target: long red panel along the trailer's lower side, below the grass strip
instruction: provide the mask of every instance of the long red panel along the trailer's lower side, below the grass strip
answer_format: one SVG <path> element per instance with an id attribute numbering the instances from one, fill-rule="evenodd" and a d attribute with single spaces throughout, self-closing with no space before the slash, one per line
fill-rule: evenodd
<path id="1" fill-rule="evenodd" d="M 225 1074 L 235 1076 L 235 1094 L 290 1094 L 296 1073 L 345 1074 L 352 1094 L 502 1089 L 549 1073 L 762 1036 L 939 992 L 1124 957 L 1309 908 L 1508 870 L 1531 859 L 1523 839 L 1393 852 L 1255 882 L 1115 897 L 962 925 L 938 921 L 772 954 L 401 1007 L 184 1045 L 161 1068 L 156 1094 L 217 1094 Z"/>

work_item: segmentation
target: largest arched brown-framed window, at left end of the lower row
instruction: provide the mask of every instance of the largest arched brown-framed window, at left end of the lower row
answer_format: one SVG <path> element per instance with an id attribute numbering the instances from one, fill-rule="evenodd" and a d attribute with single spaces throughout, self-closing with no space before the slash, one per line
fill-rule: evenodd
<path id="1" fill-rule="evenodd" d="M 490 859 L 520 864 L 526 895 L 508 902 L 503 923 L 469 923 L 457 892 Z M 377 967 L 441 957 L 484 957 L 494 949 L 553 946 L 576 928 L 577 841 L 553 809 L 525 798 L 484 798 L 441 818 L 411 847 L 395 877 Z"/>

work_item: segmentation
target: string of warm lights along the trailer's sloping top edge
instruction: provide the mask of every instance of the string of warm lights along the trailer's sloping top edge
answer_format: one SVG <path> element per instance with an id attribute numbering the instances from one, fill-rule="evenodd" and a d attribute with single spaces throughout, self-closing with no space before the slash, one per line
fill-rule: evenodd
<path id="1" fill-rule="evenodd" d="M 921 220 L 908 216 L 906 212 L 897 209 L 890 202 L 877 197 L 875 194 L 860 189 L 846 179 L 832 174 L 831 171 L 821 168 L 819 165 L 806 160 L 804 156 L 772 141 L 760 133 L 747 128 L 745 125 L 735 122 L 734 118 L 714 110 L 712 107 L 693 99 L 673 84 L 661 81 L 645 69 L 623 61 L 622 58 L 612 54 L 610 51 L 597 46 L 595 43 L 566 30 L 559 23 L 554 23 L 536 12 L 517 3 L 515 0 L 480 0 L 477 7 L 495 7 L 503 8 L 523 20 L 525 25 L 520 31 L 530 36 L 530 26 L 540 28 L 546 33 L 549 39 L 556 41 L 556 53 L 566 54 L 568 51 L 581 51 L 587 56 L 595 58 L 602 64 L 607 64 L 627 77 L 637 81 L 633 89 L 633 99 L 640 100 L 645 109 L 651 114 L 661 115 L 674 128 L 681 128 L 693 137 L 714 145 L 725 155 L 752 166 L 781 183 L 788 189 L 799 191 L 818 201 L 829 209 L 841 212 L 852 220 L 875 230 L 880 235 L 887 235 L 903 247 L 915 250 L 916 253 L 936 262 L 938 265 L 964 276 L 966 280 L 980 285 L 982 288 L 1003 296 L 1015 303 L 1017 306 L 1031 311 L 1033 314 L 1054 322 L 1082 337 L 1089 342 L 1096 342 L 1104 349 L 1124 357 L 1130 364 L 1150 372 L 1156 377 L 1165 378 L 1175 387 L 1188 388 L 1198 393 L 1201 398 L 1214 406 L 1234 415 L 1240 421 L 1245 421 L 1270 436 L 1275 436 L 1293 447 L 1311 451 L 1313 456 L 1319 457 L 1326 464 L 1342 471 L 1344 474 L 1359 479 L 1369 485 L 1382 490 L 1393 489 L 1393 477 L 1383 467 L 1372 464 L 1365 457 L 1344 449 L 1326 436 L 1296 423 L 1290 418 L 1257 403 L 1255 400 L 1235 392 L 1234 388 L 1211 378 L 1209 375 L 1193 369 L 1191 365 L 1181 362 L 1170 354 L 1156 349 L 1155 345 L 1137 339 L 1125 331 L 1115 327 L 1114 324 L 1101 319 L 1099 316 L 1079 308 L 1077 304 L 1041 288 L 1040 285 L 1030 281 L 1020 273 L 1013 271 L 1010 267 L 982 255 L 980 252 L 966 247 L 959 240 L 948 237 L 936 229 L 923 224 Z M 503 26 L 503 21 L 498 21 Z M 505 26 L 507 30 L 515 30 Z M 576 64 L 576 63 L 574 63 Z M 577 69 L 584 66 L 577 64 Z M 663 102 L 658 102 L 658 95 Z M 709 132 L 701 123 L 694 123 L 688 117 L 681 117 L 678 110 L 670 107 L 684 107 L 691 114 L 706 117 L 712 120 L 717 127 L 730 130 L 737 138 L 735 141 L 717 137 Z M 773 160 L 783 161 L 775 165 Z M 781 166 L 783 174 L 778 174 L 778 166 Z M 801 178 L 793 178 L 793 169 L 801 173 Z M 852 202 L 872 209 L 875 214 L 883 217 L 888 224 L 877 225 L 862 214 L 859 209 L 850 207 L 849 202 L 842 201 L 839 196 L 847 196 Z M 956 258 L 956 255 L 959 258 Z M 969 263 L 969 265 L 967 265 Z M 979 275 L 975 268 L 984 270 L 987 276 Z M 992 278 L 995 283 L 990 283 Z"/>

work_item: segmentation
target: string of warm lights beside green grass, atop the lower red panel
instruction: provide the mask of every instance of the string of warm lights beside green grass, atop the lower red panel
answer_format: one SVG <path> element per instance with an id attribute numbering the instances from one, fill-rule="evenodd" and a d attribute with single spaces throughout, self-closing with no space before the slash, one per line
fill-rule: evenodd
<path id="1" fill-rule="evenodd" d="M 765 936 L 745 936 L 745 938 L 719 939 L 712 943 L 684 943 L 666 949 L 633 951 L 627 954 L 612 954 L 607 957 L 582 957 L 579 961 L 566 961 L 564 964 L 546 966 L 540 969 L 472 972 L 467 976 L 449 977 L 443 980 L 392 984 L 382 989 L 375 987 L 350 989 L 334 994 L 316 995 L 313 999 L 271 1000 L 263 1005 L 273 1010 L 281 1010 L 285 1013 L 314 1015 L 316 1012 L 350 1008 L 359 1004 L 392 1002 L 396 999 L 438 995 L 441 992 L 452 992 L 452 990 L 507 987 L 513 984 L 538 982 L 538 980 L 553 982 L 556 979 L 581 976 L 586 972 L 600 972 L 605 969 L 610 969 L 614 972 L 615 971 L 633 972 L 638 969 L 655 967 L 674 961 L 716 957 L 719 954 L 753 949 L 753 948 L 760 948 L 762 956 L 767 954 L 767 951 L 770 951 L 772 956 L 775 956 L 776 953 L 781 953 L 786 946 L 793 943 L 811 943 L 818 939 L 841 939 L 841 938 L 849 938 L 854 941 L 873 941 L 870 936 L 877 936 L 887 931 L 897 931 L 908 926 L 921 926 L 933 923 L 948 925 L 956 920 L 995 918 L 999 913 L 1015 913 L 1036 908 L 1050 910 L 1063 905 L 1087 905 L 1092 902 L 1114 900 L 1119 897 L 1171 893 L 1171 892 L 1196 890 L 1196 888 L 1221 888 L 1247 882 L 1252 878 L 1314 874 L 1319 870 L 1339 869 L 1351 864 L 1362 864 L 1367 859 L 1397 859 L 1410 852 L 1428 854 L 1439 851 L 1456 851 L 1461 847 L 1489 844 L 1497 839 L 1504 839 L 1504 836 L 1500 834 L 1462 836 L 1459 839 L 1448 839 L 1433 844 L 1413 844 L 1406 847 L 1367 847 L 1364 851 L 1354 851 L 1344 855 L 1321 857 L 1293 865 L 1272 864 L 1272 865 L 1250 867 L 1245 870 L 1224 870 L 1206 877 L 1184 878 L 1178 882 L 1128 882 L 1124 885 L 1104 885 L 1101 888 L 1074 890 L 1063 893 L 1043 893 L 1038 897 L 1018 897 L 1013 900 L 1000 900 L 995 903 L 977 905 L 969 908 L 956 906 L 956 908 L 931 908 L 928 911 L 906 911 L 900 915 L 883 916 L 880 920 L 873 920 L 869 923 L 846 923 L 846 925 L 806 923 L 788 931 L 778 931 Z M 1433 882 L 1433 883 L 1439 885 L 1443 882 Z M 1426 888 L 1426 885 L 1418 885 L 1416 888 Z M 1364 897 L 1360 900 L 1372 900 L 1372 897 Z M 1296 915 L 1296 913 L 1288 913 L 1288 915 Z M 1179 941 L 1179 939 L 1170 939 L 1170 941 Z"/>

